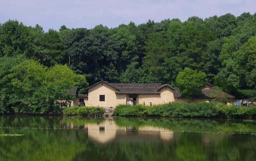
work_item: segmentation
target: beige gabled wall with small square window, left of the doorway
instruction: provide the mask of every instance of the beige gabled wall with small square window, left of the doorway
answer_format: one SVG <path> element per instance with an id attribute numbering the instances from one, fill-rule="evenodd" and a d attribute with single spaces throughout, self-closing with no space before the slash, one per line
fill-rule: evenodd
<path id="1" fill-rule="evenodd" d="M 102 82 L 88 89 L 88 106 L 113 107 L 126 103 L 126 94 L 115 94 L 114 87 Z M 105 101 L 99 101 L 99 95 L 105 95 Z"/>

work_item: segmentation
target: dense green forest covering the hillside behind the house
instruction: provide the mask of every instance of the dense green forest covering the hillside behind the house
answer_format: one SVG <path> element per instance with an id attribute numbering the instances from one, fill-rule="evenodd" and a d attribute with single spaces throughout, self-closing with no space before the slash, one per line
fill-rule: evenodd
<path id="1" fill-rule="evenodd" d="M 0 64 L 2 112 L 8 105 L 20 111 L 24 104 L 45 104 L 40 100 L 63 97 L 74 85 L 83 94 L 100 80 L 177 87 L 185 67 L 206 73 L 208 83 L 236 98 L 255 99 L 256 14 L 148 20 L 116 28 L 63 25 L 59 31 L 9 20 L 0 23 Z M 50 108 L 53 102 L 46 104 Z"/>

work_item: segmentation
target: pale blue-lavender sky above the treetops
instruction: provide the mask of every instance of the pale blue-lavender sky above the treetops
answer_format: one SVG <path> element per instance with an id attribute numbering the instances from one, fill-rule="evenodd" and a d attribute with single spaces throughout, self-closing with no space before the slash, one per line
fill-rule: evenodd
<path id="1" fill-rule="evenodd" d="M 178 18 L 182 22 L 191 16 L 205 19 L 231 13 L 256 12 L 256 0 L 0 0 L 0 23 L 9 19 L 23 25 L 36 24 L 47 32 L 50 28 L 94 28 L 102 24 L 115 28 L 121 24 L 135 25 L 149 19 Z"/>

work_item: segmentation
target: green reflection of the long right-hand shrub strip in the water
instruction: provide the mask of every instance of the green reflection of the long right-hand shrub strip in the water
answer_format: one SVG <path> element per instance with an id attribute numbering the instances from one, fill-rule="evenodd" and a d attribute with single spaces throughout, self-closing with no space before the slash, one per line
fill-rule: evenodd
<path id="1" fill-rule="evenodd" d="M 255 122 L 228 119 L 168 119 L 168 118 L 125 118 L 114 119 L 119 127 L 144 126 L 162 127 L 172 131 L 256 133 Z"/>

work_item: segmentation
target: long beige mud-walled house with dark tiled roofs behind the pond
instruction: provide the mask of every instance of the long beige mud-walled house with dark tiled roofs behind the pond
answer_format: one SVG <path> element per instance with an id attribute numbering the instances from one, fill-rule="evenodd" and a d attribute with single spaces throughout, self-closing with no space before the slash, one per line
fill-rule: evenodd
<path id="1" fill-rule="evenodd" d="M 133 101 L 136 104 L 145 102 L 147 106 L 150 101 L 153 104 L 165 104 L 171 102 L 197 102 L 197 101 L 211 101 L 215 97 L 211 96 L 216 90 L 212 89 L 212 85 L 205 84 L 202 89 L 202 94 L 197 95 L 193 101 L 186 99 L 181 95 L 178 89 L 175 89 L 167 84 L 161 85 L 160 83 L 107 83 L 100 81 L 87 88 L 88 95 L 76 95 L 76 104 L 78 101 L 85 101 L 86 106 L 100 106 L 100 107 L 113 107 L 118 104 L 126 104 L 128 101 Z M 77 88 L 76 88 L 77 89 Z M 234 98 L 225 92 L 221 95 Z"/>

